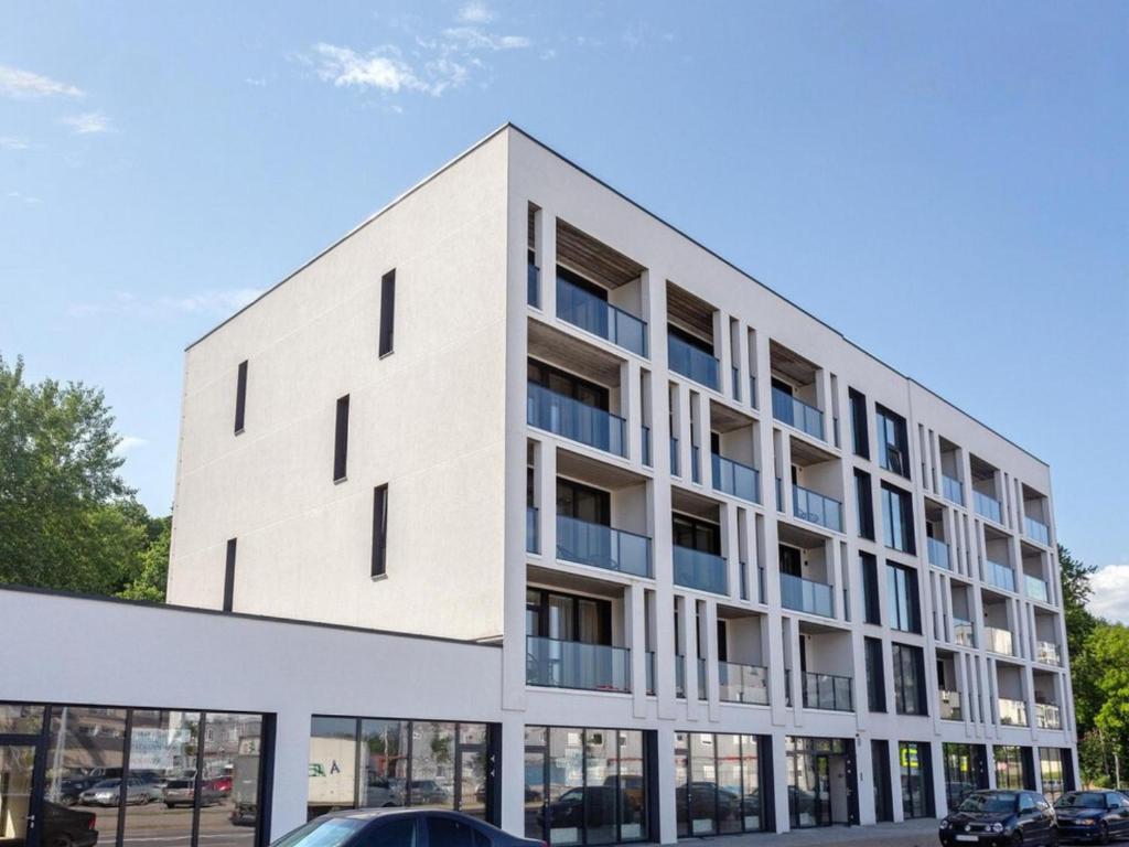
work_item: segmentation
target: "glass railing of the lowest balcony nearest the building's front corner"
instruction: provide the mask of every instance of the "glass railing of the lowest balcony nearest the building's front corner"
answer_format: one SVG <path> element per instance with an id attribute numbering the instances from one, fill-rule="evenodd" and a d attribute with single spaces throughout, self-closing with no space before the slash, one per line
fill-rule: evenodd
<path id="1" fill-rule="evenodd" d="M 525 639 L 525 681 L 586 691 L 630 691 L 631 650 L 604 644 Z"/>

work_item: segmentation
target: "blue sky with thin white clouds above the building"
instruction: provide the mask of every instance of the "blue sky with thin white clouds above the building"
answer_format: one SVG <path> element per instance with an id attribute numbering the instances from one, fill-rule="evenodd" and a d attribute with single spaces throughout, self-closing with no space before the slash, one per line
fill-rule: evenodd
<path id="1" fill-rule="evenodd" d="M 0 353 L 166 512 L 185 344 L 507 120 L 1050 462 L 1129 610 L 1126 3 L 8 2 Z"/>

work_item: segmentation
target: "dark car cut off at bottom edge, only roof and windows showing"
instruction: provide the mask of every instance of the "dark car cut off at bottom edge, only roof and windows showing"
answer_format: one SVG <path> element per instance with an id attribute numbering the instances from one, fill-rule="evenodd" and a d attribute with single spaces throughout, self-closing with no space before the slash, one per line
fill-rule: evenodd
<path id="1" fill-rule="evenodd" d="M 462 812 L 353 809 L 315 818 L 271 847 L 544 847 Z"/>

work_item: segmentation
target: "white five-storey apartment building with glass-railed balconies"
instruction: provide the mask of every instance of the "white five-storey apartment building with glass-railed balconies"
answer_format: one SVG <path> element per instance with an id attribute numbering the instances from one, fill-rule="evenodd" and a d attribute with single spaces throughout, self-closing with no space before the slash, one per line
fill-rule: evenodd
<path id="1" fill-rule="evenodd" d="M 1077 772 L 1049 468 L 513 125 L 189 348 L 168 599 L 422 636 L 287 724 L 310 813 L 669 844 Z"/>

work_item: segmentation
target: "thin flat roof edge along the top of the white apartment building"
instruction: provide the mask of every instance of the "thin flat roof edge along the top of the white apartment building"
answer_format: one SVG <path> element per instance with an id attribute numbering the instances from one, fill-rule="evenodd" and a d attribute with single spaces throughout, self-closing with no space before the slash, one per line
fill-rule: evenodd
<path id="1" fill-rule="evenodd" d="M 868 358 L 874 359 L 876 363 L 878 363 L 879 365 L 882 365 L 885 368 L 889 368 L 890 370 L 892 370 L 894 374 L 896 374 L 898 376 L 902 377 L 907 382 L 913 383 L 914 385 L 917 385 L 922 391 L 928 392 L 933 396 L 937 398 L 937 400 L 939 400 L 940 402 L 945 403 L 946 405 L 951 407 L 952 409 L 954 409 L 955 411 L 960 412 L 964 417 L 969 418 L 969 420 L 972 420 L 975 424 L 979 424 L 984 429 L 987 429 L 989 433 L 992 433 L 994 435 L 998 436 L 999 438 L 1003 438 L 1005 442 L 1007 442 L 1008 444 L 1010 444 L 1016 449 L 1018 449 L 1018 451 L 1027 454 L 1029 456 L 1031 456 L 1032 459 L 1034 459 L 1036 462 L 1039 462 L 1040 464 L 1042 464 L 1048 470 L 1050 469 L 1050 464 L 1048 464 L 1047 462 L 1044 462 L 1042 459 L 1040 459 L 1039 456 L 1036 456 L 1034 453 L 1032 453 L 1026 447 L 1023 447 L 1022 445 L 1016 444 L 1015 442 L 1013 442 L 1010 438 L 1008 438 L 1003 433 L 1000 433 L 997 429 L 994 429 L 992 427 L 988 426 L 982 420 L 980 420 L 979 418 L 977 418 L 974 414 L 969 414 L 969 412 L 964 411 L 961 407 L 956 405 L 956 403 L 954 403 L 951 400 L 942 396 L 940 394 L 938 394 L 937 392 L 935 392 L 929 386 L 922 384 L 918 379 L 914 379 L 912 376 L 909 376 L 908 374 L 902 373 L 901 370 L 899 370 L 898 368 L 895 368 L 890 363 L 884 361 L 883 359 L 878 358 L 873 352 L 870 352 L 869 350 L 867 350 L 865 347 L 863 347 L 863 346 L 856 343 L 855 341 L 852 341 L 851 339 L 849 339 L 840 330 L 837 330 L 834 326 L 832 326 L 831 324 L 829 324 L 826 321 L 824 321 L 819 315 L 813 314 L 808 309 L 806 309 L 803 306 L 800 306 L 798 303 L 789 299 L 788 297 L 785 297 L 782 294 L 780 294 L 779 291 L 777 291 L 776 289 L 773 289 L 772 287 L 764 285 L 759 279 L 756 279 L 756 277 L 754 277 L 752 273 L 750 273 L 745 269 L 739 268 L 738 265 L 734 264 L 728 259 L 726 259 L 725 256 L 723 256 L 720 253 L 717 253 L 716 251 L 711 250 L 710 247 L 707 247 L 704 244 L 702 244 L 700 241 L 698 241 L 693 236 L 688 235 L 685 232 L 683 232 L 679 227 L 674 226 L 668 220 L 665 220 L 664 218 L 662 218 L 660 216 L 656 215 L 655 212 L 653 212 L 650 209 L 646 208 L 641 203 L 637 202 L 636 200 L 632 200 L 630 197 L 628 197 L 627 194 L 624 194 L 622 191 L 619 191 L 614 186 L 612 186 L 609 183 L 606 183 L 604 180 L 601 180 L 598 176 L 596 176 L 592 172 L 589 172 L 589 171 L 580 167 L 575 161 L 572 161 L 570 158 L 568 158 L 567 156 L 558 152 L 552 147 L 550 147 L 549 145 L 546 145 L 544 141 L 542 141 L 541 139 L 539 139 L 539 138 L 530 134 L 528 132 L 526 132 L 525 130 L 523 130 L 520 126 L 518 126 L 516 123 L 514 123 L 511 121 L 507 121 L 501 126 L 499 126 L 498 129 L 496 129 L 493 132 L 490 132 L 488 136 L 483 137 L 481 140 L 479 140 L 475 143 L 471 145 L 471 147 L 469 147 L 466 150 L 464 150 L 463 152 L 461 152 L 457 156 L 455 156 L 455 158 L 450 159 L 445 165 L 440 166 L 438 169 L 436 169 L 432 173 L 430 173 L 427 176 L 425 176 L 422 180 L 420 180 L 418 183 L 415 183 L 414 185 L 412 185 L 405 192 L 403 192 L 399 197 L 394 198 L 386 206 L 384 206 L 380 209 L 378 209 L 377 211 L 375 211 L 368 218 L 366 218 L 360 224 L 358 224 L 356 227 L 353 227 L 348 233 L 345 233 L 338 241 L 333 242 L 333 244 L 331 244 L 329 247 L 326 247 L 325 250 L 322 250 L 321 252 L 318 252 L 313 259 L 310 259 L 307 262 L 304 262 L 300 267 L 298 267 L 291 273 L 287 274 L 281 280 L 279 280 L 278 282 L 275 282 L 273 286 L 271 286 L 270 288 L 268 288 L 265 291 L 263 291 L 261 295 L 259 295 L 255 299 L 253 299 L 246 306 L 244 306 L 243 308 L 240 308 L 238 312 L 235 312 L 230 317 L 227 317 L 226 320 L 224 320 L 220 323 L 216 324 L 212 329 L 208 330 L 208 332 L 205 332 L 203 335 L 201 335 L 195 341 L 193 341 L 192 343 L 190 343 L 185 348 L 185 351 L 191 350 L 193 347 L 195 347 L 201 341 L 203 341 L 204 339 L 207 339 L 213 332 L 216 332 L 217 330 L 221 329 L 225 324 L 227 324 L 228 322 L 233 321 L 235 317 L 237 317 L 238 315 L 243 314 L 243 312 L 245 312 L 246 309 L 248 309 L 252 306 L 254 306 L 256 303 L 259 303 L 259 300 L 261 300 L 263 297 L 265 297 L 266 295 L 269 295 L 271 291 L 273 291 L 279 286 L 283 285 L 287 280 L 294 278 L 295 276 L 297 276 L 298 273 L 300 273 L 301 271 L 304 271 L 306 268 L 308 268 L 310 264 L 313 264 L 314 262 L 316 262 L 323 255 L 325 255 L 331 250 L 333 250 L 334 247 L 336 247 L 339 244 L 341 244 L 342 242 L 347 241 L 348 238 L 351 238 L 353 235 L 356 235 L 361 229 L 364 229 L 365 227 L 367 227 L 374 220 L 376 220 L 377 218 L 379 218 L 382 215 L 384 215 L 384 212 L 386 212 L 390 209 L 392 209 L 394 206 L 396 206 L 402 200 L 411 197 L 414 192 L 417 192 L 419 189 L 423 187 L 429 182 L 431 182 L 432 180 L 435 180 L 437 176 L 439 176 L 447 168 L 449 168 L 449 167 L 458 164 L 458 161 L 461 161 L 462 159 L 466 158 L 472 152 L 474 152 L 476 149 L 479 149 L 480 147 L 482 147 L 483 145 L 485 145 L 488 141 L 490 141 L 492 138 L 495 138 L 495 136 L 497 136 L 497 134 L 499 134 L 501 132 L 505 132 L 506 130 L 514 130 L 515 132 L 519 132 L 522 136 L 524 136 L 525 138 L 527 138 L 530 141 L 532 141 L 533 143 L 535 143 L 537 147 L 542 148 L 543 150 L 545 150 L 546 152 L 551 154 L 552 156 L 555 156 L 558 159 L 560 159 L 564 164 L 569 165 L 570 167 L 575 168 L 579 173 L 584 174 L 589 180 L 595 181 L 596 183 L 598 183 L 603 187 L 605 187 L 609 191 L 611 191 L 613 194 L 615 194 L 621 200 L 624 200 L 628 203 L 630 203 L 631 206 L 633 206 L 636 209 L 639 209 L 639 211 L 644 212 L 648 217 L 654 218 L 656 221 L 658 221 L 659 224 L 662 224 L 664 227 L 666 227 L 667 229 L 669 229 L 675 235 L 679 235 L 682 238 L 685 238 L 688 242 L 690 242 L 691 244 L 693 244 L 695 247 L 706 251 L 711 256 L 714 256 L 715 259 L 717 259 L 719 262 L 721 262 L 725 265 L 727 265 L 728 268 L 732 268 L 733 270 L 735 270 L 737 273 L 739 273 L 741 276 L 743 276 L 745 279 L 750 280 L 751 282 L 755 282 L 758 286 L 760 286 L 761 288 L 763 288 L 765 291 L 768 291 L 769 294 L 771 294 L 773 297 L 777 297 L 777 298 L 784 300 L 785 303 L 787 303 L 793 308 L 798 309 L 799 312 L 803 312 L 805 315 L 807 315 L 808 317 L 811 317 L 816 323 L 820 323 L 821 325 L 823 325 L 826 329 L 831 330 L 831 332 L 835 333 L 840 339 L 842 339 L 846 343 L 848 343 L 851 347 L 854 347 L 856 350 L 858 350 L 859 352 L 861 352 L 864 356 L 867 356 Z"/>

